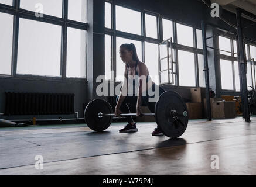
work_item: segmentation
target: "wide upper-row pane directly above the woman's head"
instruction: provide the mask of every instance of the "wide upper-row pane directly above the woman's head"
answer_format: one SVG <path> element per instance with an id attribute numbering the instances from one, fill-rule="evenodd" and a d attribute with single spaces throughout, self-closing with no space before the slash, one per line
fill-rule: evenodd
<path id="1" fill-rule="evenodd" d="M 141 35 L 141 12 L 115 6 L 115 13 L 117 30 Z"/>

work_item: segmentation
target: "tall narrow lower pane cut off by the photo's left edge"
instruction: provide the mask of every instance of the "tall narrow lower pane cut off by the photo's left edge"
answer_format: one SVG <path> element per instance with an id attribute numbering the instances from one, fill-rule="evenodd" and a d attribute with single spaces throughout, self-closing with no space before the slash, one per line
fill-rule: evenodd
<path id="1" fill-rule="evenodd" d="M 11 75 L 13 15 L 0 13 L 0 74 Z"/>

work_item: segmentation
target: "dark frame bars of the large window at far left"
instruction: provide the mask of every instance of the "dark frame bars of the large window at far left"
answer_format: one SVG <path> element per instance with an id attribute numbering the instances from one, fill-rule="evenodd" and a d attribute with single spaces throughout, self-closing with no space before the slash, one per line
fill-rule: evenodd
<path id="1" fill-rule="evenodd" d="M 21 0 L 13 0 L 13 5 L 0 4 L 0 12 L 8 13 L 14 16 L 13 19 L 13 38 L 12 38 L 12 70 L 11 75 L 0 75 L 0 78 L 14 78 L 14 79 L 32 79 L 32 80 L 59 80 L 64 81 L 66 79 L 75 80 L 75 81 L 84 81 L 85 78 L 67 78 L 66 77 L 66 63 L 67 63 L 67 28 L 71 27 L 74 29 L 86 30 L 88 29 L 88 23 L 77 22 L 75 20 L 69 20 L 68 18 L 68 1 L 62 0 L 62 18 L 43 15 L 43 17 L 37 18 L 35 12 L 28 11 L 26 9 L 20 8 Z M 86 2 L 88 4 L 88 1 Z M 19 18 L 35 20 L 38 22 L 51 23 L 53 25 L 62 26 L 61 34 L 61 52 L 60 52 L 60 77 L 50 77 L 50 76 L 41 76 L 41 75 L 19 75 L 17 74 L 17 63 L 18 63 L 18 36 L 19 36 Z M 87 64 L 87 60 L 85 62 Z M 87 65 L 86 65 L 87 66 Z"/>

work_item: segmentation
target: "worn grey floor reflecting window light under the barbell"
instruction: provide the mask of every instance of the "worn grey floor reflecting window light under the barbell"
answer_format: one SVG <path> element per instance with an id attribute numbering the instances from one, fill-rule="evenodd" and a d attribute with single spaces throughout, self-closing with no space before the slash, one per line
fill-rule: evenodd
<path id="1" fill-rule="evenodd" d="M 124 124 L 103 133 L 85 124 L 2 128 L 0 175 L 256 175 L 256 117 L 190 120 L 178 139 L 152 137 L 155 122 L 118 133 Z"/>

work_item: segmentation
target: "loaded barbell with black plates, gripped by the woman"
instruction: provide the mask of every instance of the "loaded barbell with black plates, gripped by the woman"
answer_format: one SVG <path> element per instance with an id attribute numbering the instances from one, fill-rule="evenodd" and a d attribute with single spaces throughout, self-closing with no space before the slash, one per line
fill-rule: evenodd
<path id="1" fill-rule="evenodd" d="M 108 129 L 115 116 L 110 103 L 103 99 L 94 99 L 84 110 L 87 126 L 94 131 Z M 124 113 L 119 117 L 136 116 L 136 113 Z M 189 120 L 187 106 L 182 97 L 173 91 L 166 91 L 159 96 L 155 113 L 143 113 L 141 116 L 155 116 L 156 123 L 165 136 L 177 138 L 182 136 Z"/>

